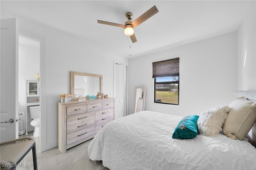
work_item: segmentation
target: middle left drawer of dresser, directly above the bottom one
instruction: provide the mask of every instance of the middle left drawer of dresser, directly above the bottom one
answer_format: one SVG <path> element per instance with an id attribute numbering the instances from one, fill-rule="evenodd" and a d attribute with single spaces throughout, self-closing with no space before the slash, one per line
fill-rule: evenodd
<path id="1" fill-rule="evenodd" d="M 95 125 L 95 113 L 67 117 L 67 134 Z"/>

